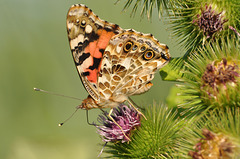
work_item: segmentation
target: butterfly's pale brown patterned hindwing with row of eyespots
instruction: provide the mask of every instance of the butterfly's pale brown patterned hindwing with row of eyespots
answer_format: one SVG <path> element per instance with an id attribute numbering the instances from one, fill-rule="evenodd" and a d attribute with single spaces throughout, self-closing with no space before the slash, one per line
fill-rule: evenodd
<path id="1" fill-rule="evenodd" d="M 168 63 L 165 44 L 151 34 L 127 30 L 114 36 L 105 49 L 99 72 L 99 92 L 105 99 L 124 102 L 146 92 L 155 72 Z"/>

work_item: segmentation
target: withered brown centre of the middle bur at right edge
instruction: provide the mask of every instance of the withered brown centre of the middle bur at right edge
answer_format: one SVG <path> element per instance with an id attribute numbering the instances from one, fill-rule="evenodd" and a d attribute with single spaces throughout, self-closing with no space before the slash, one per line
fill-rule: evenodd
<path id="1" fill-rule="evenodd" d="M 237 63 L 238 61 L 222 58 L 221 61 L 207 64 L 200 88 L 207 103 L 214 103 L 216 106 L 231 105 L 233 98 L 230 96 L 236 94 L 240 83 L 240 69 Z"/>

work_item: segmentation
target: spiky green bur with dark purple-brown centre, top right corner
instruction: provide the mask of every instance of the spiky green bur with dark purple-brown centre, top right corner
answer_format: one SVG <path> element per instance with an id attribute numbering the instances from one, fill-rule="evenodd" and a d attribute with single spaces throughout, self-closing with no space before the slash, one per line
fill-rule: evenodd
<path id="1" fill-rule="evenodd" d="M 240 30 L 240 2 L 237 0 L 183 0 L 170 16 L 173 35 L 187 50 L 185 55 L 209 41 L 227 39 Z"/>

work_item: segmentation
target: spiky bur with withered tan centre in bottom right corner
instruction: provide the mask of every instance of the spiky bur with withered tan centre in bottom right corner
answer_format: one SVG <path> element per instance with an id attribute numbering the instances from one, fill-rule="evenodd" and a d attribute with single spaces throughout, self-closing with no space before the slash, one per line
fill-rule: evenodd
<path id="1" fill-rule="evenodd" d="M 182 131 L 180 158 L 238 159 L 240 157 L 240 108 L 218 109 Z"/>

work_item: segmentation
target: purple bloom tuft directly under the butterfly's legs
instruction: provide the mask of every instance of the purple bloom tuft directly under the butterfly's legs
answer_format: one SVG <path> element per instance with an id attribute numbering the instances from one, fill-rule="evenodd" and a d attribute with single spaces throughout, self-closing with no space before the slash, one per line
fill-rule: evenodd
<path id="1" fill-rule="evenodd" d="M 141 125 L 140 114 L 132 107 L 129 108 L 123 104 L 114 108 L 111 116 L 122 127 L 124 133 L 129 138 L 131 131 Z M 128 141 L 121 129 L 107 117 L 107 113 L 99 115 L 98 121 L 102 125 L 96 125 L 97 132 L 101 135 L 104 142 L 121 141 L 124 143 Z"/>

